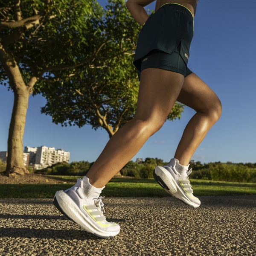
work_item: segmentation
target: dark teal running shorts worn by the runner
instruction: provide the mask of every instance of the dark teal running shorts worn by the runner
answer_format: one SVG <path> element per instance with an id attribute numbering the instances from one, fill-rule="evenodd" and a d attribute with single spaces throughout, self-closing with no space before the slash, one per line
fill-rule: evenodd
<path id="1" fill-rule="evenodd" d="M 140 31 L 134 66 L 171 70 L 188 76 L 189 48 L 194 34 L 193 15 L 185 6 L 167 3 L 151 14 Z"/>

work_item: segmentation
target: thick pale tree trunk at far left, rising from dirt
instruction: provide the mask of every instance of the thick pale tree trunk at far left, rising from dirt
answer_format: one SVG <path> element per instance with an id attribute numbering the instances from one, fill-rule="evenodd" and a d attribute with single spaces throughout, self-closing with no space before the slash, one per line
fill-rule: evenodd
<path id="1" fill-rule="evenodd" d="M 15 172 L 24 175 L 29 173 L 23 163 L 23 134 L 32 87 L 24 83 L 15 59 L 5 51 L 2 45 L 0 45 L 0 62 L 6 71 L 9 85 L 14 92 L 14 104 L 8 137 L 6 173 Z"/>

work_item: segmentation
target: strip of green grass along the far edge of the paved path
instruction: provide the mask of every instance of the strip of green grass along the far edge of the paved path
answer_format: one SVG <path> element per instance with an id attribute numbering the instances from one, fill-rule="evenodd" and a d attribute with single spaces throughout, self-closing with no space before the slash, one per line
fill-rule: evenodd
<path id="1" fill-rule="evenodd" d="M 58 176 L 64 179 L 77 176 Z M 256 195 L 256 183 L 207 181 L 191 179 L 194 195 Z M 0 198 L 53 198 L 58 190 L 70 188 L 66 184 L 0 184 Z M 170 196 L 154 179 L 113 178 L 102 191 L 102 196 L 165 197 Z"/>

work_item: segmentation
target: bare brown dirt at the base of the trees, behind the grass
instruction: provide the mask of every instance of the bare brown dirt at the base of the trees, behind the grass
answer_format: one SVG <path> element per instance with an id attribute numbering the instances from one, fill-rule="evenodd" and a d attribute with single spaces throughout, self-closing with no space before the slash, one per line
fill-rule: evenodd
<path id="1" fill-rule="evenodd" d="M 114 178 L 134 178 L 129 176 L 115 175 Z M 29 173 L 25 175 L 12 175 L 7 177 L 0 175 L 0 184 L 65 184 L 76 183 L 77 178 L 64 179 L 53 175 Z"/>

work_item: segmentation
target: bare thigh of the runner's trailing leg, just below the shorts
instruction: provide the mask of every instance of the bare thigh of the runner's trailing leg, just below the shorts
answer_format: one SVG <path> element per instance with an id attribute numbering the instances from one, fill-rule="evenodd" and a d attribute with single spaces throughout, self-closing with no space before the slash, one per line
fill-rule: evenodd
<path id="1" fill-rule="evenodd" d="M 180 93 L 184 76 L 169 70 L 142 70 L 135 118 L 166 119 Z"/>

